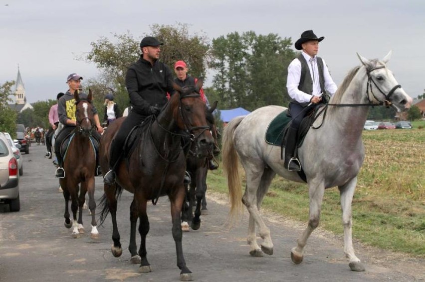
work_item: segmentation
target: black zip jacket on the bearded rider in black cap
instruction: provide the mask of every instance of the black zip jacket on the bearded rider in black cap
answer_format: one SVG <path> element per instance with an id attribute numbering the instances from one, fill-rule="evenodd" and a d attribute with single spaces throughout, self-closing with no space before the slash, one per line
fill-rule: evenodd
<path id="1" fill-rule="evenodd" d="M 167 92 L 174 94 L 172 73 L 167 65 L 150 62 L 142 57 L 127 70 L 125 84 L 133 105 L 133 111 L 149 115 L 151 105 L 163 107 L 167 103 Z"/>

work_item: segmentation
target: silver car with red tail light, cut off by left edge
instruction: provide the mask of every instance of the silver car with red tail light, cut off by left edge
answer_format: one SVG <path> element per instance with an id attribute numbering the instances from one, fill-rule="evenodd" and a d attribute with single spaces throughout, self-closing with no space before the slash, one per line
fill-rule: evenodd
<path id="1" fill-rule="evenodd" d="M 0 202 L 8 203 L 10 211 L 19 211 L 18 165 L 6 136 L 0 132 Z"/>

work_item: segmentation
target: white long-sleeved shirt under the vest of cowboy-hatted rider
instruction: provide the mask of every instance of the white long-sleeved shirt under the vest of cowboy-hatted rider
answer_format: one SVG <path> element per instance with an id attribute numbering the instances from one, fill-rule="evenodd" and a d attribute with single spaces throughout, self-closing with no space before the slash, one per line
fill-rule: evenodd
<path id="1" fill-rule="evenodd" d="M 302 51 L 301 54 L 304 56 L 305 60 L 307 61 L 311 78 L 314 77 L 313 95 L 321 96 L 317 58 L 316 56 L 314 56 L 313 61 L 310 63 L 310 59 L 312 57 L 310 57 L 310 55 L 308 55 L 304 51 Z M 325 60 L 323 60 L 323 58 L 322 58 L 322 61 L 323 61 L 323 78 L 325 82 L 325 90 L 329 92 L 329 94 L 332 96 L 333 94 L 335 94 L 337 90 L 337 86 L 332 80 L 332 77 L 329 74 L 328 67 L 326 66 Z M 312 65 L 313 65 L 313 68 L 312 68 Z M 311 100 L 312 95 L 302 92 L 298 89 L 298 86 L 300 85 L 300 79 L 301 79 L 301 62 L 300 60 L 298 60 L 298 58 L 295 58 L 294 60 L 292 60 L 292 62 L 288 66 L 288 79 L 286 81 L 286 88 L 288 90 L 289 96 L 293 98 L 294 100 L 300 103 L 309 102 Z"/>

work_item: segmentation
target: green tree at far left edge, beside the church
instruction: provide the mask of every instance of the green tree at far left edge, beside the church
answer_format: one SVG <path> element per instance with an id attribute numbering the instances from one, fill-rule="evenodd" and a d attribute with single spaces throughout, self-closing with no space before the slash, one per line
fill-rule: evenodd
<path id="1" fill-rule="evenodd" d="M 16 112 L 9 108 L 8 103 L 12 101 L 9 95 L 14 84 L 14 81 L 6 81 L 0 86 L 0 131 L 8 132 L 12 138 L 16 137 Z"/>

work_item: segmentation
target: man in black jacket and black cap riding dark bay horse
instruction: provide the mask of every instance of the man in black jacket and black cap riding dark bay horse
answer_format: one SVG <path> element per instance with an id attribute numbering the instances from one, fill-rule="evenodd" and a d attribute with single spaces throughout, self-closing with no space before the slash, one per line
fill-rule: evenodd
<path id="1" fill-rule="evenodd" d="M 125 82 L 130 96 L 132 111 L 122 123 L 111 144 L 109 171 L 103 182 L 108 185 L 115 183 L 115 166 L 121 158 L 125 139 L 131 129 L 141 123 L 149 115 L 158 115 L 167 103 L 167 92 L 174 93 L 172 72 L 167 65 L 158 60 L 161 45 L 155 37 L 147 36 L 140 42 L 142 55 L 127 70 Z M 185 177 L 190 182 L 190 178 Z"/>

